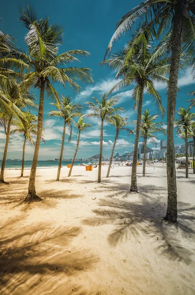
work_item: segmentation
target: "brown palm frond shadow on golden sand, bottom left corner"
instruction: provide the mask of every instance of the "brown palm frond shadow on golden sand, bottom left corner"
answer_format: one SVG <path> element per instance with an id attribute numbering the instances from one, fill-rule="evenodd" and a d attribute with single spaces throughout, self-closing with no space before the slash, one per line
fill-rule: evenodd
<path id="1" fill-rule="evenodd" d="M 70 279 L 64 285 L 65 277 L 77 278 L 98 261 L 86 249 L 71 245 L 81 227 L 25 223 L 21 214 L 0 227 L 0 294 L 56 294 L 58 289 L 57 294 L 64 295 L 72 290 L 78 295 L 95 294 L 79 284 L 73 287 Z"/>

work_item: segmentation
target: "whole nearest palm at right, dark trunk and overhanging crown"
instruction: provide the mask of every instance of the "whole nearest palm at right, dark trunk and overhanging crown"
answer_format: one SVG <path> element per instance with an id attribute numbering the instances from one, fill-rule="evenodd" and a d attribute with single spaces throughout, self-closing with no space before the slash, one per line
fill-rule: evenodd
<path id="1" fill-rule="evenodd" d="M 143 30 L 160 36 L 164 31 L 170 36 L 168 50 L 171 62 L 167 92 L 167 213 L 165 219 L 177 222 L 177 185 L 174 159 L 174 118 L 177 97 L 178 70 L 181 51 L 185 51 L 189 64 L 195 64 L 195 0 L 145 0 L 126 13 L 117 23 L 107 53 L 113 43 L 137 21 L 141 20 Z M 106 53 L 106 54 L 107 54 Z"/>

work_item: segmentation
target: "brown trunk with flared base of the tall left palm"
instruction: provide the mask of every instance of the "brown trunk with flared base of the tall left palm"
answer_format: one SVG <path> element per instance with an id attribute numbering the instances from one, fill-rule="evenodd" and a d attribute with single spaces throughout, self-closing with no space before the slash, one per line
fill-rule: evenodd
<path id="1" fill-rule="evenodd" d="M 40 78 L 40 79 L 41 79 L 41 86 L 40 86 L 39 112 L 38 112 L 38 120 L 37 120 L 36 144 L 34 148 L 34 155 L 32 159 L 32 166 L 31 166 L 30 177 L 29 177 L 28 195 L 24 200 L 24 202 L 27 202 L 27 203 L 42 201 L 42 199 L 36 195 L 36 190 L 35 190 L 36 167 L 37 167 L 39 147 L 40 147 L 40 142 L 41 142 L 41 137 L 43 132 L 43 108 L 44 108 L 44 92 L 45 92 L 45 81 L 43 78 Z"/>

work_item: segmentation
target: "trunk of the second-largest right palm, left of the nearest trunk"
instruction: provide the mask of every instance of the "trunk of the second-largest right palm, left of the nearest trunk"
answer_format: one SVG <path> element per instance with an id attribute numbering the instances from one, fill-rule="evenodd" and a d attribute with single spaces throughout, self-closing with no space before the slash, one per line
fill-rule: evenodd
<path id="1" fill-rule="evenodd" d="M 137 116 L 137 125 L 136 125 L 136 140 L 135 140 L 135 146 L 134 146 L 134 157 L 133 157 L 133 165 L 132 165 L 132 173 L 131 173 L 131 188 L 130 188 L 130 192 L 135 192 L 135 193 L 138 193 L 137 160 L 138 160 L 139 132 L 141 127 L 141 112 L 142 112 L 142 104 L 143 104 L 143 90 L 144 90 L 144 85 L 142 82 L 142 84 L 140 85 L 138 116 Z"/>

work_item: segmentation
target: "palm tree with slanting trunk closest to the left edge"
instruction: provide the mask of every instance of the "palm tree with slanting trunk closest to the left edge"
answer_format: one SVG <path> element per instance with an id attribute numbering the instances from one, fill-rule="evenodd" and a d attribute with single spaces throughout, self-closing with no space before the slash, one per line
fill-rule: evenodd
<path id="1" fill-rule="evenodd" d="M 18 109 L 20 109 L 20 112 L 25 110 L 26 107 L 36 108 L 35 105 L 35 98 L 34 96 L 28 91 L 28 89 L 21 88 L 21 84 L 15 84 L 15 87 L 12 89 L 9 89 L 9 95 L 8 93 L 5 95 L 5 97 L 10 101 L 11 107 L 16 106 Z M 28 128 L 28 120 L 25 118 L 24 114 L 20 118 L 22 121 L 21 123 Z M 5 148 L 1 163 L 1 170 L 0 170 L 0 182 L 7 183 L 4 181 L 4 170 L 5 170 L 5 161 L 7 157 L 7 149 L 9 144 L 9 137 L 10 137 L 10 128 L 12 125 L 16 125 L 19 122 L 18 116 L 16 116 L 16 113 L 9 113 L 7 112 L 7 109 L 3 109 L 0 113 L 0 125 L 4 127 L 5 134 L 6 134 L 6 141 L 5 141 Z"/>

